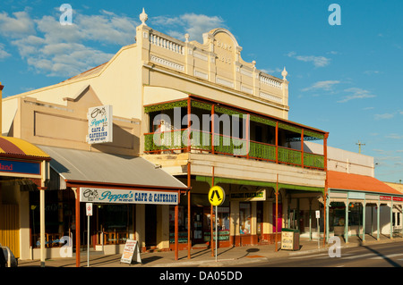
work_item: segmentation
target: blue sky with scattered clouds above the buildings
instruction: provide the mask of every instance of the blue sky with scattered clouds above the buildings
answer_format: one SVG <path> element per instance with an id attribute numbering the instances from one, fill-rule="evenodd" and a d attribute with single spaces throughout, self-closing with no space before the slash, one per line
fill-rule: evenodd
<path id="1" fill-rule="evenodd" d="M 73 25 L 60 25 L 62 4 Z M 330 4 L 341 25 L 330 25 Z M 289 120 L 330 132 L 328 144 L 375 158 L 375 177 L 403 180 L 403 1 L 13 1 L 0 6 L 3 96 L 56 84 L 107 62 L 147 24 L 201 42 L 231 31 L 247 62 L 281 78 Z"/>

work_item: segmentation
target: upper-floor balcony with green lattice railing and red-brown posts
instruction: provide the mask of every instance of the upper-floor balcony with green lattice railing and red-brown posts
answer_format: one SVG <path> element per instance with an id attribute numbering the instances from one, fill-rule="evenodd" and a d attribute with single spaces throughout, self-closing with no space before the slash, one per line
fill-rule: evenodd
<path id="1" fill-rule="evenodd" d="M 144 134 L 146 154 L 209 153 L 308 169 L 326 168 L 324 155 L 290 147 L 291 142 L 299 141 L 304 146 L 304 140 L 321 139 L 325 146 L 327 133 L 313 128 L 190 97 L 145 106 L 144 110 L 153 122 L 150 132 Z M 180 116 L 180 124 L 175 128 L 171 123 L 177 121 L 176 115 Z M 236 120 L 229 119 L 226 127 L 229 116 Z"/>

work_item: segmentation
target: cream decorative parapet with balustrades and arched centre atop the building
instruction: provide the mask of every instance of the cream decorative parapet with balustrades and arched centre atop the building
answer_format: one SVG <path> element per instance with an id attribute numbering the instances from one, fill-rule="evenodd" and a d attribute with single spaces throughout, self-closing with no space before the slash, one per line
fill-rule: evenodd
<path id="1" fill-rule="evenodd" d="M 188 76 L 209 81 L 216 86 L 236 90 L 245 96 L 253 96 L 262 103 L 288 111 L 287 71 L 282 79 L 256 69 L 256 63 L 244 62 L 242 47 L 227 29 L 212 29 L 203 34 L 203 43 L 169 37 L 145 24 L 137 27 L 137 39 L 141 35 L 142 63 L 160 65 L 183 72 Z M 138 43 L 140 44 L 140 43 Z M 287 115 L 285 117 L 287 119 Z"/>

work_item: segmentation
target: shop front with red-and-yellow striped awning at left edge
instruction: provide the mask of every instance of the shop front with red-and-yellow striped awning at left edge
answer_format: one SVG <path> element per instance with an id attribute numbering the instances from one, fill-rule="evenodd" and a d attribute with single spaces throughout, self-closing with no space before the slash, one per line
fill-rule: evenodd
<path id="1" fill-rule="evenodd" d="M 17 258 L 30 258 L 30 196 L 35 193 L 37 217 L 33 235 L 41 261 L 45 250 L 48 163 L 46 152 L 20 138 L 0 137 L 0 244 Z"/>

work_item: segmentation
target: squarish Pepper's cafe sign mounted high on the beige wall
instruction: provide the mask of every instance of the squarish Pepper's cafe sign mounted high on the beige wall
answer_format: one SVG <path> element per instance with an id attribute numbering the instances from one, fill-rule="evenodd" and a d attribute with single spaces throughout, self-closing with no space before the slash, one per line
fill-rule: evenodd
<path id="1" fill-rule="evenodd" d="M 89 144 L 101 144 L 113 141 L 112 105 L 103 105 L 88 109 Z"/>

